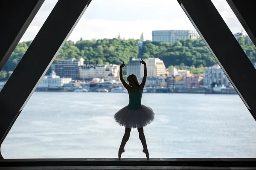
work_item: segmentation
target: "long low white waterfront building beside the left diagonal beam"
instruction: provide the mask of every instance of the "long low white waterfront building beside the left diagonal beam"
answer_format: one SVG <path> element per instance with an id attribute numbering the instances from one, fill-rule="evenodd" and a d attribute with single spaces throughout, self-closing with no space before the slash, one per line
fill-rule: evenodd
<path id="1" fill-rule="evenodd" d="M 72 81 L 72 78 L 60 78 L 54 71 L 49 76 L 44 76 L 41 82 L 38 84 L 38 88 L 53 88 L 61 87 Z"/>

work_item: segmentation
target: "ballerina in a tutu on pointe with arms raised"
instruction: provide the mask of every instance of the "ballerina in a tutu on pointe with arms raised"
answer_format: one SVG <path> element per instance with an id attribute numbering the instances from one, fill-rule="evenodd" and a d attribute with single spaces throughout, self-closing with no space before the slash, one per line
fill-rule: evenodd
<path id="1" fill-rule="evenodd" d="M 141 84 L 137 76 L 134 74 L 131 74 L 127 77 L 127 84 L 122 76 L 122 68 L 125 66 L 125 64 L 123 62 L 122 65 L 120 65 L 119 76 L 122 84 L 128 91 L 129 104 L 116 112 L 114 115 L 116 122 L 121 126 L 125 126 L 125 134 L 122 138 L 122 142 L 118 150 L 118 159 L 121 159 L 122 153 L 125 152 L 124 147 L 130 137 L 131 128 L 138 129 L 139 138 L 143 145 L 143 152 L 145 153 L 147 159 L 149 159 L 143 127 L 150 124 L 154 120 L 154 112 L 150 107 L 141 104 L 143 88 L 147 78 L 147 66 L 143 59 L 141 59 L 140 63 L 144 65 L 144 77 Z"/>

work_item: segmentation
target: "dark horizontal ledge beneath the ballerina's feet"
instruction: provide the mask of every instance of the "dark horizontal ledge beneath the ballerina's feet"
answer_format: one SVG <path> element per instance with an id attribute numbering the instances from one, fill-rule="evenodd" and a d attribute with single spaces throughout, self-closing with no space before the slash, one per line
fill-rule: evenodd
<path id="1" fill-rule="evenodd" d="M 2 159 L 3 167 L 87 167 L 87 166 L 181 166 L 181 167 L 256 167 L 256 159 L 183 159 L 183 158 L 117 158 L 106 159 Z M 255 168 L 256 170 L 256 168 Z"/>

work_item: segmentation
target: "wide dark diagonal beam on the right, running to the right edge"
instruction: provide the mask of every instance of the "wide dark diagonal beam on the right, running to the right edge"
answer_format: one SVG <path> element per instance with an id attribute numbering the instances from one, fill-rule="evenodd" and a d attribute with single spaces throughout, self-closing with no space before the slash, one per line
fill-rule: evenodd
<path id="1" fill-rule="evenodd" d="M 212 1 L 177 1 L 256 120 L 256 69 Z"/>

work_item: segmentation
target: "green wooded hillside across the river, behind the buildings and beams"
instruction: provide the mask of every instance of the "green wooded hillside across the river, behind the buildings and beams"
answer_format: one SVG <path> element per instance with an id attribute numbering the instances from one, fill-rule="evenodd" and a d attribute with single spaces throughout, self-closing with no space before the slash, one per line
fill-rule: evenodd
<path id="1" fill-rule="evenodd" d="M 23 57 L 32 41 L 19 42 L 9 57 L 3 70 L 14 71 L 20 59 Z M 256 62 L 256 47 L 253 43 L 245 43 L 244 38 L 238 40 L 251 62 Z M 205 67 L 216 64 L 216 60 L 210 53 L 201 38 L 196 40 L 183 39 L 175 43 L 144 41 L 142 58 L 160 58 L 166 68 L 171 65 L 178 69 L 189 66 L 192 73 L 202 73 Z M 86 64 L 111 63 L 120 65 L 127 64 L 131 58 L 137 58 L 139 53 L 138 41 L 129 39 L 119 41 L 116 38 L 102 40 L 67 41 L 61 48 L 57 59 L 83 58 Z M 180 65 L 183 63 L 184 65 Z M 194 67 L 192 67 L 194 65 Z M 180 66 L 180 68 L 179 68 Z"/>

